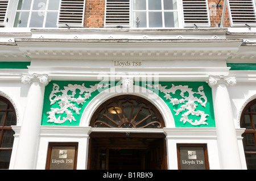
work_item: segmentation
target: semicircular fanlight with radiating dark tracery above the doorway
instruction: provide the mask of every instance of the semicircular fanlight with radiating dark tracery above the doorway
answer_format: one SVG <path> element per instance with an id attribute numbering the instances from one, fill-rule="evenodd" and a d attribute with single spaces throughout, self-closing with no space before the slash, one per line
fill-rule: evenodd
<path id="1" fill-rule="evenodd" d="M 94 113 L 94 128 L 163 128 L 160 112 L 146 99 L 134 95 L 117 96 L 103 103 Z"/>

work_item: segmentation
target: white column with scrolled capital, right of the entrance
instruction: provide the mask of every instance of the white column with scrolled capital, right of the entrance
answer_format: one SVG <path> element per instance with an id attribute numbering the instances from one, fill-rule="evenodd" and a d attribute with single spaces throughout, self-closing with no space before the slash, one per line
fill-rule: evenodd
<path id="1" fill-rule="evenodd" d="M 227 89 L 228 85 L 236 85 L 234 76 L 209 76 L 209 86 L 212 87 L 220 168 L 223 170 L 242 169 L 232 107 Z"/>

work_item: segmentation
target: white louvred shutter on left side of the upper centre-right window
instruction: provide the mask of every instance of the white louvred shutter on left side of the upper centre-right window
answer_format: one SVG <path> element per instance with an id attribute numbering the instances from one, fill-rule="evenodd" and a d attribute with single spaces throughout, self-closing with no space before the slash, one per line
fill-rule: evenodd
<path id="1" fill-rule="evenodd" d="M 106 0 L 105 27 L 130 27 L 130 0 Z"/>

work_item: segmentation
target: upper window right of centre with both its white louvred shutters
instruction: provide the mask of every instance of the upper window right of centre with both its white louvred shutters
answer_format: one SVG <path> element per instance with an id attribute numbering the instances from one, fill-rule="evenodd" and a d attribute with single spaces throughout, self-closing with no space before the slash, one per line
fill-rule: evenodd
<path id="1" fill-rule="evenodd" d="M 209 27 L 206 0 L 106 0 L 105 27 Z"/>

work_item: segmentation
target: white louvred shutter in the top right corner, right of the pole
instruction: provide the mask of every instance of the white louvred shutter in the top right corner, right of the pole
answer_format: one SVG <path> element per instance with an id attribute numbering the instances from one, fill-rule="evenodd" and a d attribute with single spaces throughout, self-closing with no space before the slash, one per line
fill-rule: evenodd
<path id="1" fill-rule="evenodd" d="M 230 26 L 256 25 L 254 0 L 229 0 Z"/>

